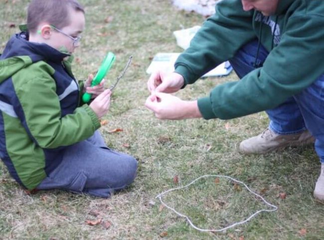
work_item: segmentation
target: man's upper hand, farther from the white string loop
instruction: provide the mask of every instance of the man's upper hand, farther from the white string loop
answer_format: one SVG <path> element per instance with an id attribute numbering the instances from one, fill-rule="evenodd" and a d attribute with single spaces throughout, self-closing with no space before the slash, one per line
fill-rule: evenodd
<path id="1" fill-rule="evenodd" d="M 154 91 L 161 93 L 175 93 L 183 86 L 183 84 L 184 79 L 180 74 L 157 71 L 151 75 L 148 81 L 148 89 L 151 93 Z"/>

